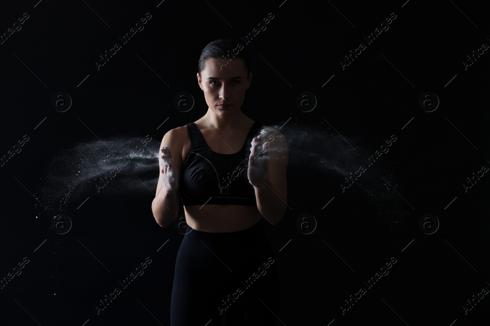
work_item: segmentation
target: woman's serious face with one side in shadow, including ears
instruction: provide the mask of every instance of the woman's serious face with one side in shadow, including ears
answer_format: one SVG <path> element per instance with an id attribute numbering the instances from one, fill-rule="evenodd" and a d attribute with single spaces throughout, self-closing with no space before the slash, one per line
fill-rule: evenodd
<path id="1" fill-rule="evenodd" d="M 245 90 L 252 80 L 246 79 L 246 70 L 242 59 L 231 59 L 228 62 L 221 59 L 206 60 L 206 67 L 197 73 L 197 82 L 204 91 L 204 98 L 210 109 L 221 116 L 233 115 L 240 111 L 245 98 Z M 221 108 L 220 104 L 230 104 Z"/>

